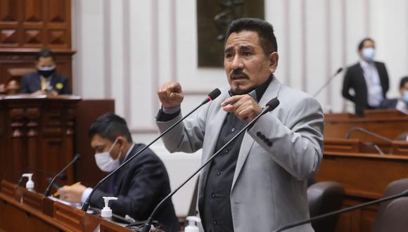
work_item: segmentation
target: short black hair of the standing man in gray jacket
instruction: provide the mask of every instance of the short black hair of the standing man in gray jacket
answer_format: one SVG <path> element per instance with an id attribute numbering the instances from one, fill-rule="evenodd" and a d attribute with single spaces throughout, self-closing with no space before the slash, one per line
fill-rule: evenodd
<path id="1" fill-rule="evenodd" d="M 227 29 L 227 34 L 225 34 L 225 43 L 227 43 L 230 34 L 244 30 L 257 32 L 260 38 L 260 46 L 266 55 L 278 51 L 274 27 L 269 22 L 259 18 L 239 18 L 232 21 Z"/>

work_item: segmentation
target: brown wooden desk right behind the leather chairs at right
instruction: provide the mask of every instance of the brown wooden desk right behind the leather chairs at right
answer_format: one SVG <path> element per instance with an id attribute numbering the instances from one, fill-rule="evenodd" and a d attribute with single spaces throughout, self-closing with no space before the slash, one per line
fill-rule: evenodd
<path id="1" fill-rule="evenodd" d="M 398 155 L 378 155 L 364 148 L 361 141 L 340 138 L 325 140 L 324 157 L 317 181 L 336 181 L 345 188 L 343 207 L 381 198 L 391 181 L 408 176 L 408 143 L 395 141 L 389 150 Z M 371 232 L 378 205 L 342 214 L 337 232 Z"/>

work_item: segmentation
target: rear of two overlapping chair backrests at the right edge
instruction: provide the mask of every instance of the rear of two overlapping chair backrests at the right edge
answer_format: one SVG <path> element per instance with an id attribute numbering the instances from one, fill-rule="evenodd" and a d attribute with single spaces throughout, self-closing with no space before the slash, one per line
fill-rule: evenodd
<path id="1" fill-rule="evenodd" d="M 383 198 L 388 197 L 390 195 L 402 193 L 402 191 L 405 191 L 407 189 L 408 189 L 408 178 L 393 181 L 391 183 L 388 183 L 388 186 L 385 187 Z M 389 201 L 382 202 L 380 207 L 378 208 L 376 221 L 374 224 L 374 231 L 380 231 L 380 226 L 381 224 L 383 224 L 383 214 L 385 212 L 385 209 L 388 207 L 388 204 L 390 204 Z"/>

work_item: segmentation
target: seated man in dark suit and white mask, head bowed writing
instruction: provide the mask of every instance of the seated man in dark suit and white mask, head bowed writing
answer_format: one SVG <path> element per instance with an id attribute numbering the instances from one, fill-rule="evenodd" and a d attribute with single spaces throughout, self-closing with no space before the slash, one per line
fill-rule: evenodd
<path id="1" fill-rule="evenodd" d="M 125 120 L 113 113 L 96 119 L 89 129 L 89 138 L 96 153 L 96 165 L 103 172 L 112 172 L 145 147 L 144 144 L 133 143 Z M 60 199 L 70 202 L 84 202 L 91 191 L 92 188 L 83 185 L 58 189 Z M 144 221 L 169 193 L 170 181 L 165 165 L 152 150 L 146 149 L 99 186 L 90 203 L 101 209 L 104 206 L 103 197 L 114 196 L 117 200 L 109 202 L 113 214 L 122 217 L 128 214 L 136 221 Z M 180 231 L 172 200 L 162 205 L 154 220 L 164 226 L 165 231 Z"/>

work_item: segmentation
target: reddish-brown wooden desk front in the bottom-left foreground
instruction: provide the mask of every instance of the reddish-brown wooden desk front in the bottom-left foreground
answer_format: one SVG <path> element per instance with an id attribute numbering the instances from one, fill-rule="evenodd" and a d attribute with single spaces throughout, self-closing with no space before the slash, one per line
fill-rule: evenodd
<path id="1" fill-rule="evenodd" d="M 30 192 L 31 202 L 20 202 L 19 193 L 23 193 L 23 200 L 27 200 L 24 196 L 27 191 L 8 181 L 1 181 L 0 231 L 95 231 L 96 228 L 111 232 L 131 231 L 60 202 L 52 202 L 51 216 L 44 214 L 44 202 L 48 198 Z"/>

